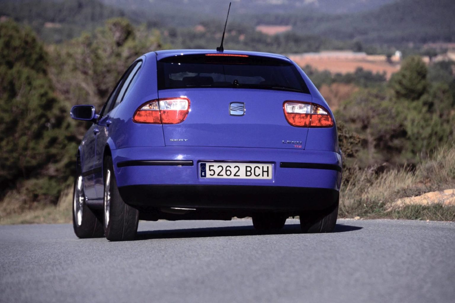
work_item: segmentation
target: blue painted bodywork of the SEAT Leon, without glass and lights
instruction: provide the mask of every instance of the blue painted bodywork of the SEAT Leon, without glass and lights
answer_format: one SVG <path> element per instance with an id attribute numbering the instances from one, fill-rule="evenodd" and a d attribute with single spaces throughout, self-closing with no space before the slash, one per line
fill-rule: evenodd
<path id="1" fill-rule="evenodd" d="M 298 65 L 282 55 L 225 50 L 225 54 L 263 56 L 293 64 L 310 94 L 272 89 L 186 88 L 162 89 L 157 85 L 157 60 L 170 56 L 217 53 L 214 50 L 163 50 L 147 53 L 136 81 L 120 104 L 103 113 L 82 140 L 78 154 L 88 199 L 102 199 L 103 160 L 113 159 L 119 187 L 134 185 L 235 185 L 302 187 L 339 191 L 341 171 L 320 168 L 282 168 L 280 163 L 342 166 L 336 126 L 300 128 L 288 124 L 283 102 L 315 103 L 332 112 Z M 190 112 L 180 124 L 140 124 L 132 117 L 145 102 L 185 96 Z M 244 115 L 230 115 L 229 104 L 244 103 Z M 94 130 L 97 131 L 94 134 Z M 182 139 L 180 141 L 171 139 Z M 288 144 L 287 141 L 301 142 Z M 191 160 L 192 166 L 126 166 L 131 160 Z M 269 163 L 273 179 L 207 179 L 200 177 L 202 161 Z M 341 170 L 341 169 L 339 169 Z M 91 174 L 88 174 L 90 173 Z M 128 201 L 126 201 L 128 202 Z"/>

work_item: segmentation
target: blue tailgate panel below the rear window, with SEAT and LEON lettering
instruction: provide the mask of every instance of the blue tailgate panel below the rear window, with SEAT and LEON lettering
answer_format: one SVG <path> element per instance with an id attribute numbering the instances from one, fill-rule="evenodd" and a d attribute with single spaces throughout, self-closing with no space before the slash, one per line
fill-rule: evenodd
<path id="1" fill-rule="evenodd" d="M 288 124 L 283 114 L 283 102 L 311 102 L 308 94 L 258 89 L 172 89 L 159 92 L 160 98 L 176 96 L 190 99 L 190 112 L 180 124 L 163 125 L 166 145 L 305 147 L 308 128 Z M 243 104 L 244 114 L 231 115 L 230 107 L 237 109 L 233 112 L 236 114 L 242 107 L 232 103 Z"/>

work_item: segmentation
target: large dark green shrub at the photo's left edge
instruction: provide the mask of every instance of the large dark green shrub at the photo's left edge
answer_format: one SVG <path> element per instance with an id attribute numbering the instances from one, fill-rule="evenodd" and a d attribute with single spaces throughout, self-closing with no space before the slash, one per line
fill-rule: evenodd
<path id="1" fill-rule="evenodd" d="M 75 138 L 67 107 L 53 92 L 48 55 L 30 29 L 11 21 L 0 23 L 0 52 L 0 197 L 18 180 L 39 176 L 53 179 L 35 188 L 56 202 Z"/>

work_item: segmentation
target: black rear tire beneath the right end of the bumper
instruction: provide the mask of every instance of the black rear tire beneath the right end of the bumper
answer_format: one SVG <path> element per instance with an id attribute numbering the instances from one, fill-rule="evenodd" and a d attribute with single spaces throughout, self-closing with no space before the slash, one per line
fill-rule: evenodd
<path id="1" fill-rule="evenodd" d="M 337 203 L 323 211 L 308 212 L 300 215 L 300 228 L 303 233 L 331 233 L 338 217 Z"/>

